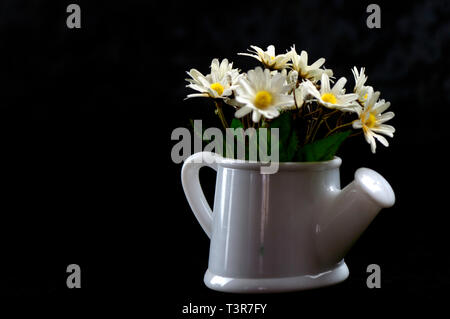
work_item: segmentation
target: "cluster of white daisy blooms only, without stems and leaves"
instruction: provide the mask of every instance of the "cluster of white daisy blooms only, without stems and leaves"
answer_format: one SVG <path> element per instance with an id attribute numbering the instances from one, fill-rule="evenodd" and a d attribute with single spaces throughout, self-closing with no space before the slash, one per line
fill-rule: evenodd
<path id="1" fill-rule="evenodd" d="M 347 94 L 345 77 L 338 79 L 330 86 L 331 69 L 323 68 L 324 58 L 308 65 L 308 54 L 298 54 L 293 46 L 284 54 L 276 54 L 275 47 L 267 50 L 251 46 L 250 53 L 239 53 L 256 58 L 263 68 L 256 67 L 247 73 L 233 69 L 233 63 L 227 59 L 219 63 L 214 59 L 211 73 L 204 76 L 196 69 L 191 69 L 187 85 L 199 93 L 189 94 L 191 97 L 209 97 L 220 99 L 236 108 L 235 116 L 241 118 L 251 113 L 253 122 L 273 119 L 280 112 L 298 111 L 305 105 L 317 103 L 327 109 L 354 113 L 357 119 L 352 121 L 354 129 L 362 129 L 366 141 L 375 153 L 375 139 L 388 146 L 388 141 L 380 134 L 393 137 L 395 129 L 384 124 L 394 117 L 393 112 L 386 111 L 390 103 L 379 100 L 380 92 L 366 86 L 365 69 L 352 69 L 355 86 L 352 93 Z"/>

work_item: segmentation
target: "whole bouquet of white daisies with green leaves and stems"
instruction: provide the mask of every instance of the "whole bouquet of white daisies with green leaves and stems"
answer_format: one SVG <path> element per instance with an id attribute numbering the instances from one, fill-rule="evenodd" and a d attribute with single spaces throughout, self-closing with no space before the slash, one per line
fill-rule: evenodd
<path id="1" fill-rule="evenodd" d="M 225 129 L 255 128 L 257 134 L 260 128 L 278 128 L 281 162 L 330 160 L 344 140 L 361 133 L 373 153 L 376 141 L 389 145 L 383 135 L 393 137 L 395 129 L 385 122 L 394 113 L 385 112 L 390 103 L 366 85 L 364 68 L 352 69 L 355 85 L 346 93 L 346 78 L 334 81 L 324 58 L 308 65 L 308 54 L 298 54 L 295 47 L 278 55 L 273 45 L 266 51 L 251 49 L 240 54 L 256 58 L 262 67 L 241 73 L 227 59 L 214 59 L 206 76 L 196 69 L 187 72 L 187 87 L 197 91 L 187 98 L 211 99 Z M 231 121 L 224 108 L 233 110 Z"/>

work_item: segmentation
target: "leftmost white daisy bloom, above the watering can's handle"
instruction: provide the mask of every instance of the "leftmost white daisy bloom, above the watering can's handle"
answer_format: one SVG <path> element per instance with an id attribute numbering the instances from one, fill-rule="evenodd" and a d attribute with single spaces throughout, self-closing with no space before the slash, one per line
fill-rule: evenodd
<path id="1" fill-rule="evenodd" d="M 204 76 L 196 69 L 187 72 L 191 79 L 186 87 L 190 87 L 200 93 L 189 94 L 186 98 L 191 97 L 211 97 L 215 99 L 226 99 L 237 87 L 239 80 L 239 70 L 233 69 L 233 63 L 229 63 L 227 59 L 223 59 L 219 63 L 218 59 L 211 62 L 211 73 Z"/>

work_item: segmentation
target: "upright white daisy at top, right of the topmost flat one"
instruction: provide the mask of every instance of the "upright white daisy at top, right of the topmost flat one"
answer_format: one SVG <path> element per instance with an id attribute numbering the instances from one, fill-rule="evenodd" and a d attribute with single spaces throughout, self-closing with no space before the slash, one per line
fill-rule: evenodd
<path id="1" fill-rule="evenodd" d="M 330 69 L 321 69 L 320 67 L 325 63 L 324 58 L 318 59 L 311 65 L 308 65 L 308 53 L 302 51 L 300 55 L 295 51 L 295 46 L 291 48 L 292 52 L 292 69 L 297 71 L 299 76 L 303 79 L 310 80 L 315 83 L 320 80 L 323 73 L 329 77 L 333 76 L 333 71 Z"/>

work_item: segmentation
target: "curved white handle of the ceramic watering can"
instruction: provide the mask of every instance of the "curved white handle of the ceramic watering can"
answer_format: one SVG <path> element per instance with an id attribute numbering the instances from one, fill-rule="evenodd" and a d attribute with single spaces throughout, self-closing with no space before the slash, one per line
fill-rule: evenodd
<path id="1" fill-rule="evenodd" d="M 219 155 L 211 152 L 195 153 L 184 161 L 181 169 L 181 183 L 184 194 L 200 226 L 209 238 L 211 238 L 212 232 L 212 210 L 203 194 L 199 172 L 203 166 L 211 167 L 217 171 L 218 157 Z"/>

